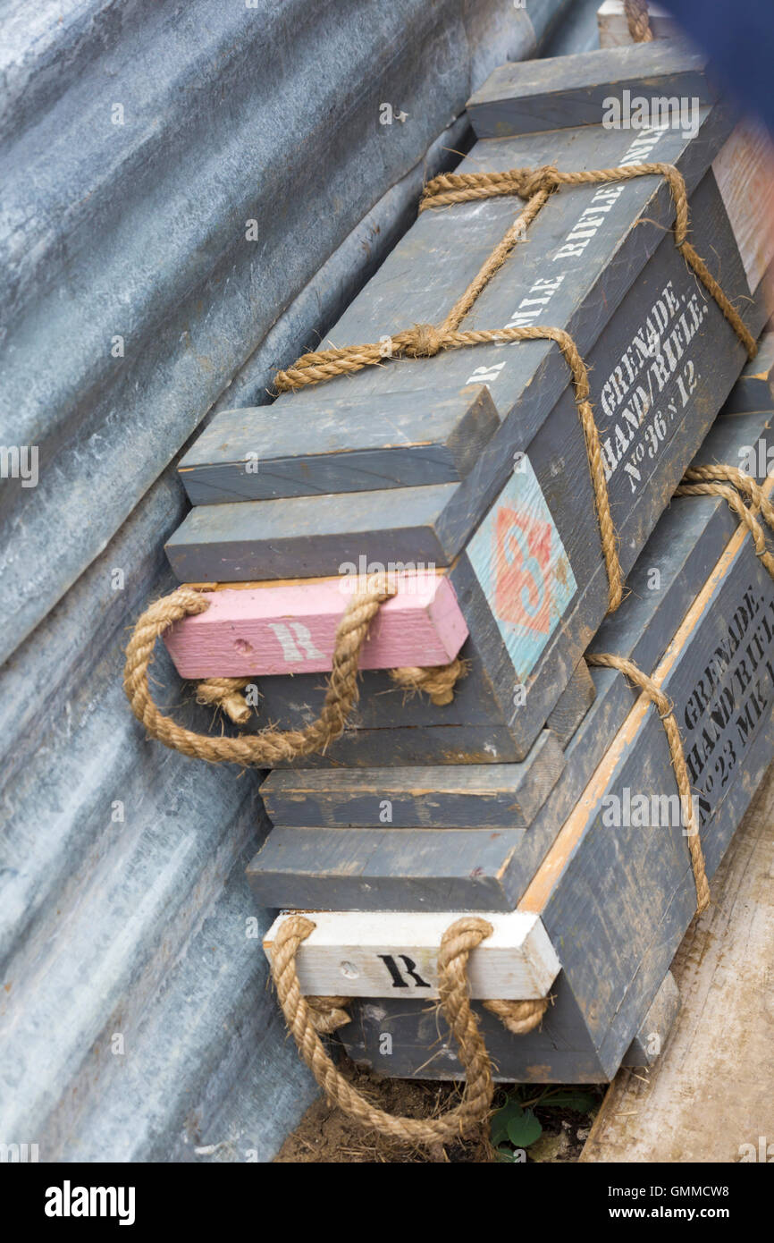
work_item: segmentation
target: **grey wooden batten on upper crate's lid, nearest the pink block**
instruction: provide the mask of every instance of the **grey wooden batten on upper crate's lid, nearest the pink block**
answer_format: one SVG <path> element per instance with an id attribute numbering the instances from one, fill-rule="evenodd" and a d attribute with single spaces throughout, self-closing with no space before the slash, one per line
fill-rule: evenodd
<path id="1" fill-rule="evenodd" d="M 403 393 L 353 401 L 323 387 L 301 421 L 288 399 L 224 410 L 181 460 L 180 477 L 194 505 L 462 479 L 499 425 L 489 390 L 434 394 L 420 440 L 419 405 Z"/>

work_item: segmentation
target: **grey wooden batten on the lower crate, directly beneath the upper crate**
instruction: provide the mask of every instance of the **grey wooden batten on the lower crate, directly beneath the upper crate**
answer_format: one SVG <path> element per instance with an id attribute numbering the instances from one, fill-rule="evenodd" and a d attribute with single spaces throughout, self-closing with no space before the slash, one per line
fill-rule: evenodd
<path id="1" fill-rule="evenodd" d="M 544 730 L 522 763 L 277 768 L 261 797 L 271 822 L 286 828 L 514 829 L 532 822 L 563 768 L 559 742 Z"/>

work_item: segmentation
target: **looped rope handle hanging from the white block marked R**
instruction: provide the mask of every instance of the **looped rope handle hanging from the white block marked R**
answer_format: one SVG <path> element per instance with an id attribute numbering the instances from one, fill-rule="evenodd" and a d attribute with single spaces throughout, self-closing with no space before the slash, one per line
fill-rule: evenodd
<path id="1" fill-rule="evenodd" d="M 296 972 L 298 947 L 313 930 L 314 924 L 303 915 L 285 920 L 273 945 L 271 971 L 282 1013 L 301 1057 L 328 1099 L 362 1126 L 405 1144 L 436 1145 L 460 1139 L 480 1125 L 489 1112 L 494 1084 L 486 1044 L 470 1006 L 467 960 L 471 950 L 491 935 L 492 925 L 477 916 L 465 916 L 452 924 L 441 940 L 441 1009 L 457 1042 L 466 1081 L 460 1104 L 447 1114 L 430 1119 L 395 1117 L 371 1105 L 326 1053 Z"/>

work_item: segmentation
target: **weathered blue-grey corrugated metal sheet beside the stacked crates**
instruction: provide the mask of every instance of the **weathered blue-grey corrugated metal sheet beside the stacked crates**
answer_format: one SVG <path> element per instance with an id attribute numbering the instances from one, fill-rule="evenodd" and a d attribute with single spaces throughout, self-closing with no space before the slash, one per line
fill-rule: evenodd
<path id="1" fill-rule="evenodd" d="M 123 646 L 171 585 L 170 462 L 314 343 L 563 9 L 5 5 L 0 445 L 40 479 L 0 484 L 0 1142 L 268 1160 L 313 1096 L 242 876 L 257 777 L 145 742 Z"/>

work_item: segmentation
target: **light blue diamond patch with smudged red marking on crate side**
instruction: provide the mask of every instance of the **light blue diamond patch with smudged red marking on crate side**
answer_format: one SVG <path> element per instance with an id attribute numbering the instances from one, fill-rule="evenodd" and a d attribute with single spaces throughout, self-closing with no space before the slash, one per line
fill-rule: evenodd
<path id="1" fill-rule="evenodd" d="M 467 546 L 518 677 L 524 681 L 578 583 L 524 456 Z"/>

